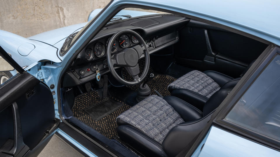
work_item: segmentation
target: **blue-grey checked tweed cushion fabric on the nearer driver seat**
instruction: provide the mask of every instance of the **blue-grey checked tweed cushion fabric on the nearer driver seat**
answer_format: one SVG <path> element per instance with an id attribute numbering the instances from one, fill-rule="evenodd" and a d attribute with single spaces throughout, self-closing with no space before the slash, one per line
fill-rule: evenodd
<path id="1" fill-rule="evenodd" d="M 118 118 L 132 124 L 160 144 L 174 126 L 184 122 L 172 106 L 156 95 L 140 101 Z"/>

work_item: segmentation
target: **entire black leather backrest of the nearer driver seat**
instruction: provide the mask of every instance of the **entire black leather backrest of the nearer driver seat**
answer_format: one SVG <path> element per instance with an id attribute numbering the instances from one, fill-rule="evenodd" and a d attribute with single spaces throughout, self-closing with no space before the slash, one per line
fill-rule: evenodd
<path id="1" fill-rule="evenodd" d="M 231 90 L 232 88 L 221 88 L 215 92 L 204 105 L 202 118 L 181 123 L 169 131 L 162 143 L 162 147 L 168 156 L 176 156 L 183 148 L 192 146 L 199 133 L 209 122 L 213 111 Z"/>

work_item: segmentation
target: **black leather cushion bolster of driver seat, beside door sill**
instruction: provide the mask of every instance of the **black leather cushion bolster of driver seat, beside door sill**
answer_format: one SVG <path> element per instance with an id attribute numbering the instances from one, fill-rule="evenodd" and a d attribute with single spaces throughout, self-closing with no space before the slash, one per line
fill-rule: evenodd
<path id="1" fill-rule="evenodd" d="M 144 156 L 167 156 L 161 144 L 132 126 L 118 126 L 117 133 L 122 141 L 141 152 Z"/>

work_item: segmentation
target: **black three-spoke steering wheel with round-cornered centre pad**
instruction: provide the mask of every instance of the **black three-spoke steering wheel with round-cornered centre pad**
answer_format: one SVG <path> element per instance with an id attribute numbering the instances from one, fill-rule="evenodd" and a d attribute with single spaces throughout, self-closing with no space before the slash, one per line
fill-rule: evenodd
<path id="1" fill-rule="evenodd" d="M 114 40 L 117 39 L 117 37 L 119 37 L 122 34 L 133 35 L 134 37 L 136 37 L 138 39 L 141 46 L 139 44 L 137 44 L 131 48 L 126 48 L 123 51 L 114 54 L 114 56 L 112 57 L 111 49 L 112 49 L 113 42 L 114 42 Z M 141 74 L 141 76 L 138 76 L 138 74 L 140 73 L 138 60 L 142 56 L 143 53 L 145 55 L 145 67 L 144 67 L 144 71 Z M 135 31 L 132 31 L 132 30 L 122 30 L 122 31 L 115 33 L 112 36 L 112 38 L 109 41 L 108 48 L 107 48 L 107 61 L 108 61 L 108 67 L 109 67 L 112 75 L 114 76 L 114 78 L 124 85 L 137 85 L 138 83 L 143 81 L 143 79 L 148 74 L 149 65 L 150 65 L 149 51 L 148 51 L 145 41 L 138 33 L 136 33 Z M 125 67 L 128 74 L 130 74 L 134 80 L 133 81 L 124 80 L 117 74 L 114 67 Z"/>

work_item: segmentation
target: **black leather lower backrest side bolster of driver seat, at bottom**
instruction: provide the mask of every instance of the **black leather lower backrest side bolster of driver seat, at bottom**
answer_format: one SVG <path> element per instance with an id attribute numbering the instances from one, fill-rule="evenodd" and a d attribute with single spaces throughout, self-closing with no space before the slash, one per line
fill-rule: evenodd
<path id="1" fill-rule="evenodd" d="M 194 122 L 185 122 L 175 126 L 166 135 L 162 147 L 168 156 L 176 156 L 182 149 L 192 146 L 199 133 L 206 126 L 212 114 Z"/>

